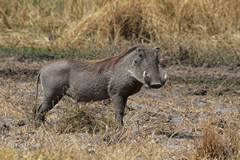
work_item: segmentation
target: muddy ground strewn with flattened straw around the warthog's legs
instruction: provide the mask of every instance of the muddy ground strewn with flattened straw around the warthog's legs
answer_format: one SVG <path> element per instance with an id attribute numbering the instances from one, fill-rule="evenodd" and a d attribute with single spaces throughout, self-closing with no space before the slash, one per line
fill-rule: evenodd
<path id="1" fill-rule="evenodd" d="M 112 104 L 75 104 L 67 97 L 47 114 L 47 123 L 35 129 L 36 75 L 46 63 L 0 59 L 0 146 L 16 151 L 20 159 L 34 159 L 29 155 L 60 146 L 81 148 L 90 159 L 192 159 L 207 124 L 220 136 L 228 131 L 240 134 L 240 65 L 207 64 L 167 65 L 164 87 L 143 88 L 129 98 L 121 131 L 115 127 Z M 118 145 L 123 148 L 116 153 Z M 74 154 L 70 159 L 78 159 L 79 153 Z"/>

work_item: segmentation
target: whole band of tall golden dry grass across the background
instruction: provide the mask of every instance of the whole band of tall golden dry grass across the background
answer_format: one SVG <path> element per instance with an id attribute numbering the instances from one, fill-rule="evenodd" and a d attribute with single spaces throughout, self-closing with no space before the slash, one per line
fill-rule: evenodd
<path id="1" fill-rule="evenodd" d="M 239 6 L 235 0 L 1 0 L 0 44 L 104 48 L 146 42 L 161 45 L 170 57 L 218 55 L 216 61 L 227 62 L 239 60 Z"/>

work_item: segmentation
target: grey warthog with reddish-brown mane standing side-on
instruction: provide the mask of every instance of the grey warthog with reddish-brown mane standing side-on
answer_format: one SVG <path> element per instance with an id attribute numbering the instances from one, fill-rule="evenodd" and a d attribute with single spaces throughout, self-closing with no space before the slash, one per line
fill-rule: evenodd
<path id="1" fill-rule="evenodd" d="M 123 126 L 127 98 L 142 86 L 160 88 L 167 75 L 159 69 L 159 48 L 135 46 L 126 52 L 98 61 L 61 60 L 44 66 L 37 78 L 43 88 L 43 101 L 35 110 L 35 126 L 44 122 L 45 114 L 68 95 L 77 102 L 110 98 L 115 118 Z"/>

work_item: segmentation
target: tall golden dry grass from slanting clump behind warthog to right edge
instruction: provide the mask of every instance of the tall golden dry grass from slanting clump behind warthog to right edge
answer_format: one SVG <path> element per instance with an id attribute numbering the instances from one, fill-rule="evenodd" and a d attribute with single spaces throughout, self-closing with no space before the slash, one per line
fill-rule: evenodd
<path id="1" fill-rule="evenodd" d="M 219 45 L 239 44 L 233 37 L 239 28 L 237 6 L 233 1 L 112 1 L 67 28 L 58 43 L 93 47 L 131 40 L 207 54 Z"/>

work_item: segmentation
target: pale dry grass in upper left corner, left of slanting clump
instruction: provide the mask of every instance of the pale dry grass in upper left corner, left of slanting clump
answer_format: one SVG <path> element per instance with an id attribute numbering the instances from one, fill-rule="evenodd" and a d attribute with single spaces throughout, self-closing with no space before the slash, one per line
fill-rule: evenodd
<path id="1" fill-rule="evenodd" d="M 65 28 L 105 3 L 104 0 L 0 0 L 0 44 L 50 47 L 50 42 Z"/>

